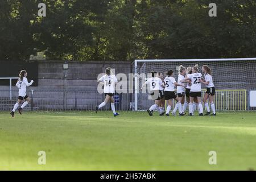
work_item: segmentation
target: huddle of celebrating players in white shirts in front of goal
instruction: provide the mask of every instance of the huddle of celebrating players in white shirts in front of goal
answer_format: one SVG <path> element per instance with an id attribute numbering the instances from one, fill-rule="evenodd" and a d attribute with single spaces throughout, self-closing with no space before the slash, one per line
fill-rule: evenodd
<path id="1" fill-rule="evenodd" d="M 162 73 L 151 72 L 152 77 L 148 78 L 146 82 L 142 85 L 142 88 L 147 84 L 150 85 L 150 95 L 154 97 L 155 104 L 147 110 L 147 113 L 152 116 L 153 111 L 156 109 L 159 115 L 169 116 L 171 107 L 173 105 L 172 101 L 177 101 L 172 115 L 176 115 L 176 111 L 179 110 L 179 115 L 185 115 L 185 110 L 189 109 L 189 115 L 194 115 L 196 108 L 199 110 L 199 115 L 203 114 L 203 105 L 201 102 L 201 84 L 207 87 L 207 92 L 204 94 L 203 102 L 207 113 L 205 115 L 216 115 L 215 105 L 214 105 L 214 94 L 215 88 L 212 80 L 212 71 L 207 65 L 203 65 L 202 74 L 199 72 L 198 65 L 195 67 L 188 67 L 187 69 L 180 65 L 179 76 L 177 82 L 174 78 L 174 71 L 169 70 L 166 73 L 166 77 L 163 78 Z M 175 86 L 177 86 L 177 94 L 175 93 Z M 210 102 L 210 107 L 212 109 L 212 114 L 210 113 L 210 108 L 208 105 L 208 100 Z M 165 101 L 167 101 L 167 109 L 164 111 Z"/>

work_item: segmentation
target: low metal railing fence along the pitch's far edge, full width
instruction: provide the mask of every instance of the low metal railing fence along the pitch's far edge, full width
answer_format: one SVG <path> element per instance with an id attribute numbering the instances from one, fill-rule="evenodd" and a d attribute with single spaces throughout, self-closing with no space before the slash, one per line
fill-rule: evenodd
<path id="1" fill-rule="evenodd" d="M 11 110 L 17 101 L 17 92 L 13 91 L 10 100 L 10 90 L 0 91 L 0 110 Z M 203 96 L 205 90 L 203 90 Z M 94 110 L 105 100 L 104 94 L 97 91 L 82 90 L 28 90 L 32 102 L 26 110 Z M 16 97 L 14 97 L 16 95 Z M 139 94 L 139 110 L 146 110 L 154 101 L 147 99 L 148 94 Z M 216 90 L 214 103 L 216 110 L 256 110 L 249 107 L 249 90 Z M 116 110 L 134 110 L 133 94 L 115 94 Z M 174 102 L 175 106 L 175 102 Z M 173 107 L 174 108 L 174 107 Z M 110 110 L 110 104 L 102 110 Z"/>

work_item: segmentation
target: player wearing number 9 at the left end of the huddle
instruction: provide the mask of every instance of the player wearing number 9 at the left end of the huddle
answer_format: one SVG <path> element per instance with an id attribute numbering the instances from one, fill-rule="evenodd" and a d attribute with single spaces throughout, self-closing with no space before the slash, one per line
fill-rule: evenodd
<path id="1" fill-rule="evenodd" d="M 157 72 L 151 72 L 151 78 L 148 78 L 146 82 L 144 82 L 144 84 L 141 87 L 141 90 L 144 88 L 144 86 L 146 86 L 147 84 L 150 85 L 150 95 L 152 96 L 152 98 L 154 98 L 155 100 L 155 104 L 152 105 L 150 107 L 150 109 L 147 110 L 147 113 L 152 116 L 153 113 L 152 111 L 157 109 L 159 114 L 162 114 L 161 110 L 160 110 L 160 99 L 162 96 L 162 92 L 160 92 L 160 86 L 162 86 L 164 88 L 164 84 L 163 81 L 158 77 L 158 73 Z"/>

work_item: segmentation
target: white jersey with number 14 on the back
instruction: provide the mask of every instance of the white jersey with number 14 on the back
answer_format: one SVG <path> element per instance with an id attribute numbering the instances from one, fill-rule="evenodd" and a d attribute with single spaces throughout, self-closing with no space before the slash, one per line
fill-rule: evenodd
<path id="1" fill-rule="evenodd" d="M 104 82 L 104 93 L 115 93 L 115 82 L 117 82 L 115 75 L 104 75 L 98 80 Z"/>

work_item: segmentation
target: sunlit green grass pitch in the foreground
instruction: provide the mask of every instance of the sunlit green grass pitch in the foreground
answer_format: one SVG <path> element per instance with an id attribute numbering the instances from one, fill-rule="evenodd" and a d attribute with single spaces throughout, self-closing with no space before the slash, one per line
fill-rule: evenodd
<path id="1" fill-rule="evenodd" d="M 256 113 L 0 113 L 0 170 L 253 170 Z M 38 152 L 46 152 L 46 165 Z M 217 164 L 209 164 L 216 151 Z"/>

